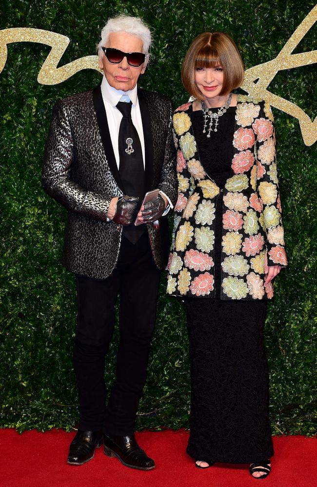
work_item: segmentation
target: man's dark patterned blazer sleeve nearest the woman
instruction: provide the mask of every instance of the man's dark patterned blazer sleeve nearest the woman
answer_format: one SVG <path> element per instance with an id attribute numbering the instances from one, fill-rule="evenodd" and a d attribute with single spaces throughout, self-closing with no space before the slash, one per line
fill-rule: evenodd
<path id="1" fill-rule="evenodd" d="M 172 132 L 172 103 L 169 107 L 169 124 L 165 144 L 164 162 L 161 171 L 159 189 L 171 200 L 173 206 L 177 201 L 176 150 Z"/>

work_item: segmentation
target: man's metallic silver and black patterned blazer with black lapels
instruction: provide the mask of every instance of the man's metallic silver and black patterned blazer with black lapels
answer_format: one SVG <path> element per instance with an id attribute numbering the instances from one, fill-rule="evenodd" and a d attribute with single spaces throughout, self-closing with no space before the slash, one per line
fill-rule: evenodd
<path id="1" fill-rule="evenodd" d="M 172 103 L 165 96 L 138 90 L 145 142 L 146 191 L 159 188 L 177 201 L 176 154 Z M 84 276 L 104 279 L 119 254 L 122 226 L 107 222 L 112 198 L 124 194 L 113 152 L 100 85 L 59 100 L 44 153 L 42 184 L 68 210 L 63 264 Z M 168 260 L 167 216 L 159 228 L 148 224 L 153 257 L 159 269 Z"/>

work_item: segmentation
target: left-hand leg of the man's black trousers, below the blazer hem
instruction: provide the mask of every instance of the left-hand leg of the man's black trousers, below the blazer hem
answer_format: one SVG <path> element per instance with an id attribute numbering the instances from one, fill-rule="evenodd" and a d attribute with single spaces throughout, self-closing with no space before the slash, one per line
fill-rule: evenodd
<path id="1" fill-rule="evenodd" d="M 76 281 L 78 326 L 73 359 L 79 393 L 79 430 L 97 431 L 105 416 L 104 357 L 115 324 L 119 277 L 114 271 L 107 279 L 77 275 Z"/>

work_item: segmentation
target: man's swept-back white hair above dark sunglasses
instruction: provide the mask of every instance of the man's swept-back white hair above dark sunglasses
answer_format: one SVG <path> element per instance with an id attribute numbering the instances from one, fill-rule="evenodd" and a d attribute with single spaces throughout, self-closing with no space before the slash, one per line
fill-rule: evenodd
<path id="1" fill-rule="evenodd" d="M 101 47 L 104 47 L 109 40 L 109 34 L 112 32 L 126 32 L 133 36 L 139 37 L 143 41 L 143 51 L 146 54 L 146 60 L 149 58 L 149 48 L 152 43 L 152 35 L 148 26 L 138 17 L 128 15 L 118 15 L 113 19 L 108 19 L 106 25 L 101 31 L 101 39 L 97 44 L 97 52 L 100 56 Z"/>

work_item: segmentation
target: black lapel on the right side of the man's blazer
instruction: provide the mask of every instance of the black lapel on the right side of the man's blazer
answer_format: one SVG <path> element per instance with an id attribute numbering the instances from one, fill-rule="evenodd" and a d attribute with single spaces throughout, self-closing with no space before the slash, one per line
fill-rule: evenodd
<path id="1" fill-rule="evenodd" d="M 138 90 L 139 107 L 142 118 L 142 127 L 145 145 L 145 191 L 152 189 L 153 181 L 153 135 L 151 130 L 151 118 L 146 100 L 141 90 Z"/>

